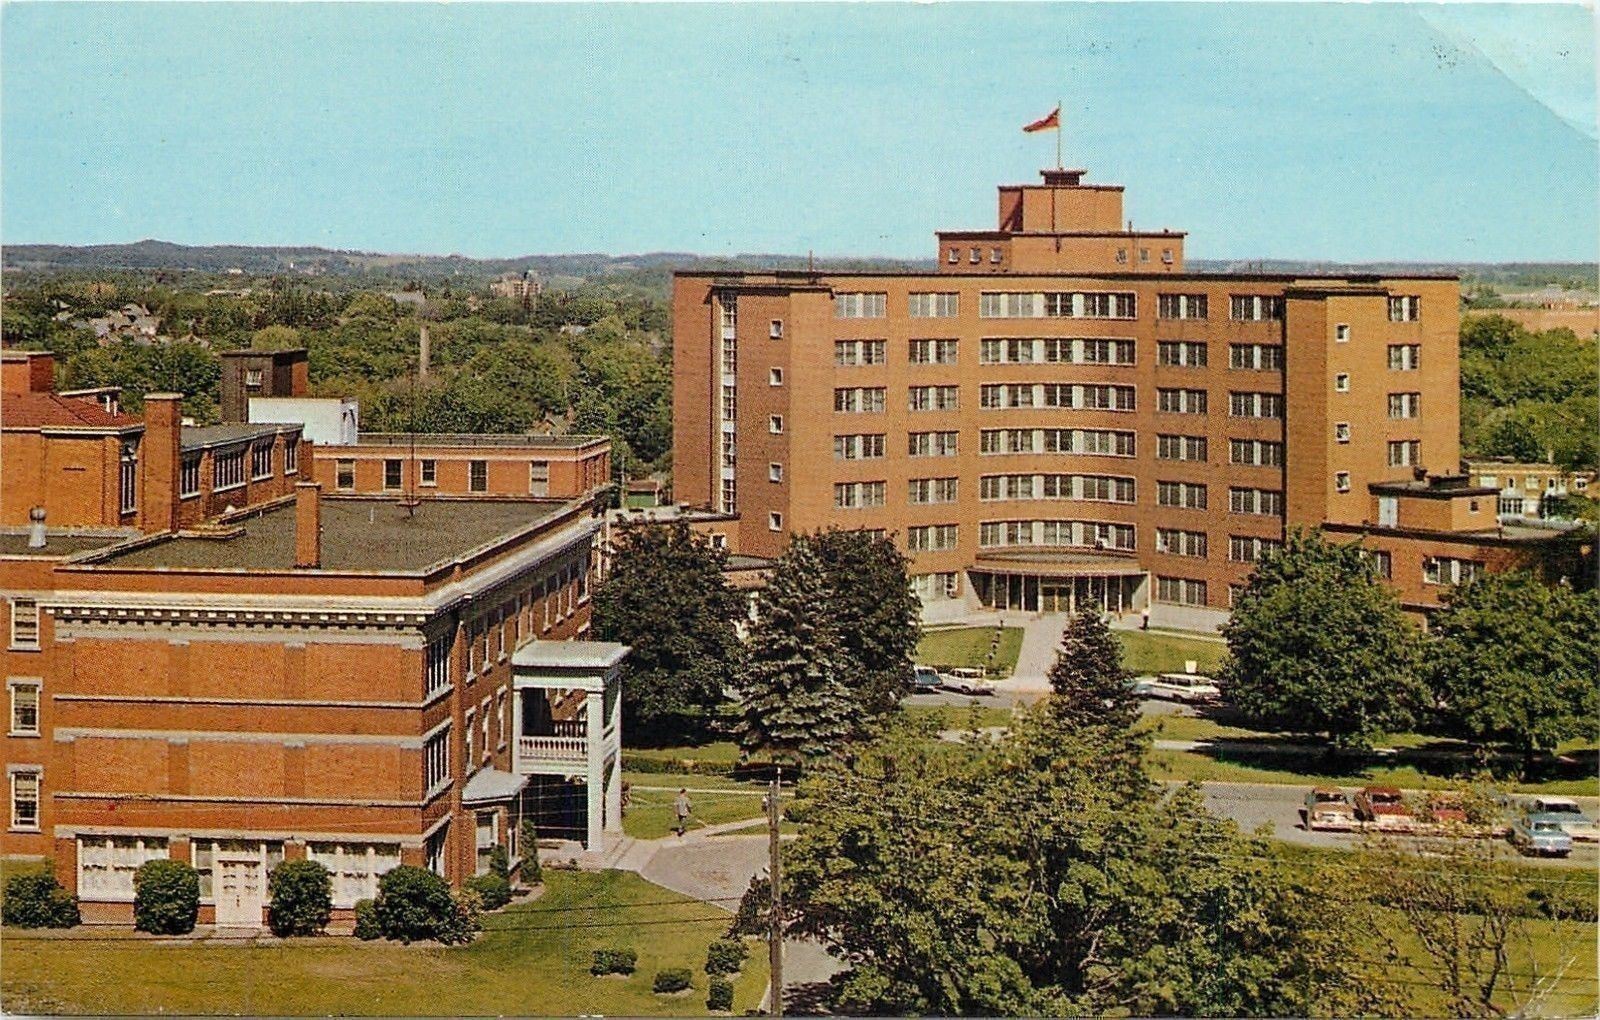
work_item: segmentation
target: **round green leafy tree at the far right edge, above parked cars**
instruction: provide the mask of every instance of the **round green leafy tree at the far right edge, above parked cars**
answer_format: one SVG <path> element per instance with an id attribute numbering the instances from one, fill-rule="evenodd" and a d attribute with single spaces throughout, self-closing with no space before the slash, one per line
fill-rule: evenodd
<path id="1" fill-rule="evenodd" d="M 1594 732 L 1600 593 L 1486 574 L 1445 593 L 1432 635 L 1434 689 L 1461 735 L 1531 758 Z"/>

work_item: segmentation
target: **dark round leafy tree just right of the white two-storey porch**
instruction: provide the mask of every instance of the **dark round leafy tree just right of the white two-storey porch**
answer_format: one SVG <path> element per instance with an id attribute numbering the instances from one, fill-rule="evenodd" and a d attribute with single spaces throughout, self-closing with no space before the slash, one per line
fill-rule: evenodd
<path id="1" fill-rule="evenodd" d="M 744 596 L 728 587 L 728 553 L 683 521 L 619 529 L 611 572 L 594 596 L 594 633 L 632 646 L 622 711 L 632 734 L 702 735 L 734 686 Z"/>

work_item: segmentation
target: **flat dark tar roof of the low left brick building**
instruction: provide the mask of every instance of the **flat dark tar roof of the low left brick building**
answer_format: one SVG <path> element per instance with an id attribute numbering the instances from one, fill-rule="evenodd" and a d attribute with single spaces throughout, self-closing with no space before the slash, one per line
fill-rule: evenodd
<path id="1" fill-rule="evenodd" d="M 394 499 L 322 500 L 322 569 L 410 574 L 462 556 L 557 516 L 565 500 L 424 499 L 411 513 Z M 294 569 L 294 505 L 232 521 L 232 539 L 176 536 L 96 560 L 115 568 L 197 571 Z"/>

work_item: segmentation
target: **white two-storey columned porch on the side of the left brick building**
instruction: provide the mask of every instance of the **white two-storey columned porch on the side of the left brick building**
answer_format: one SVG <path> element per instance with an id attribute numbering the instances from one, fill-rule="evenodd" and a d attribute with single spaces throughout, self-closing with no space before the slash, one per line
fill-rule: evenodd
<path id="1" fill-rule="evenodd" d="M 626 644 L 530 641 L 512 652 L 517 694 L 514 772 L 579 779 L 584 846 L 605 849 L 622 831 L 622 683 Z"/>

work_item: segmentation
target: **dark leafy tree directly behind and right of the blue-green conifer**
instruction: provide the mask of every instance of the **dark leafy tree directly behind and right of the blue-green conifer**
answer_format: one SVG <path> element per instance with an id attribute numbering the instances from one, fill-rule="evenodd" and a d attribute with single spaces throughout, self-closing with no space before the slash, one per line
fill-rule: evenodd
<path id="1" fill-rule="evenodd" d="M 827 614 L 856 663 L 862 713 L 883 715 L 906 694 L 922 636 L 910 561 L 890 539 L 867 531 L 822 531 L 811 536 L 811 547 L 827 577 Z"/>

